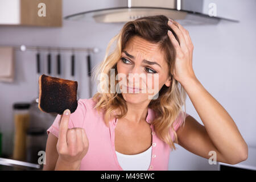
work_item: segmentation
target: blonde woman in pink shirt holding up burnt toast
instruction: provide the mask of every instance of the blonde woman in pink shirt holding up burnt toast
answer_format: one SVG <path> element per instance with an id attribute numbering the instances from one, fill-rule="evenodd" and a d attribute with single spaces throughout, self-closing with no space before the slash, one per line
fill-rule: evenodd
<path id="1" fill-rule="evenodd" d="M 188 31 L 166 16 L 127 22 L 93 70 L 101 92 L 57 115 L 47 130 L 44 170 L 168 170 L 174 143 L 218 162 L 246 160 L 233 119 L 196 78 L 192 52 Z M 182 111 L 186 94 L 204 126 Z"/>

